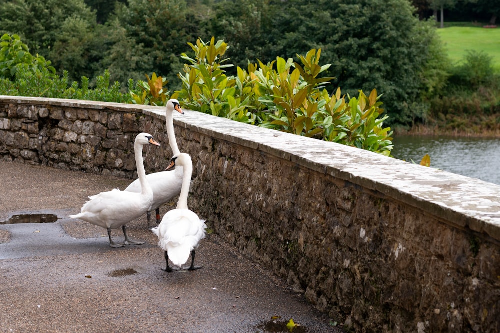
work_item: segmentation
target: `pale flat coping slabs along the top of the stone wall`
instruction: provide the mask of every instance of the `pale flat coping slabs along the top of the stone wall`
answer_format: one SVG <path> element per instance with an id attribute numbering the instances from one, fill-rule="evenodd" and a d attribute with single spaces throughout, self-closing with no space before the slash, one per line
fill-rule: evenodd
<path id="1" fill-rule="evenodd" d="M 164 108 L 73 99 L 2 96 L 3 103 L 142 112 L 163 118 Z M 352 186 L 378 192 L 460 229 L 500 241 L 500 185 L 386 157 L 370 151 L 239 123 L 192 110 L 174 123 L 213 138 L 296 163 Z M 151 133 L 154 135 L 154 133 Z"/>

